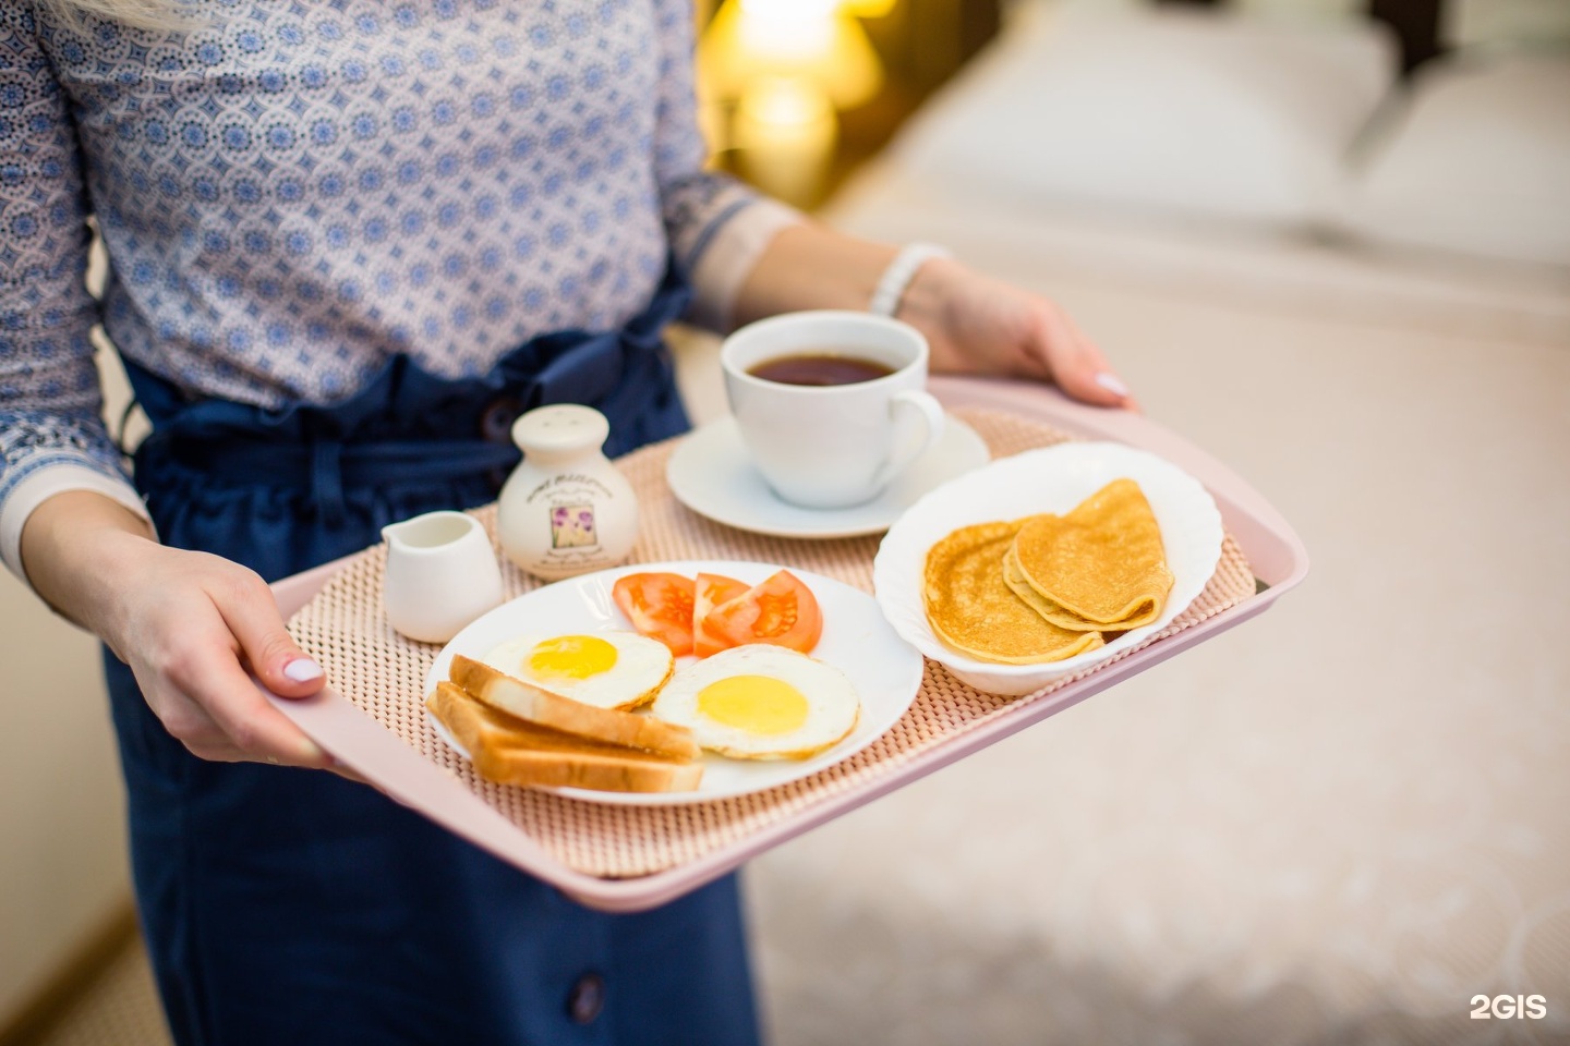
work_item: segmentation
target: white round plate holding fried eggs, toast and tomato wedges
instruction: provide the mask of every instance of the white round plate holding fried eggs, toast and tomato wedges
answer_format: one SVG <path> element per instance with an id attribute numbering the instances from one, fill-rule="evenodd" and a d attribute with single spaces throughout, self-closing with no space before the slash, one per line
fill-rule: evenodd
<path id="1" fill-rule="evenodd" d="M 524 632 L 548 632 L 551 635 L 595 634 L 631 629 L 622 616 L 611 588 L 623 574 L 644 571 L 670 571 L 692 577 L 699 572 L 724 574 L 755 585 L 779 566 L 766 563 L 739 563 L 727 560 L 683 560 L 677 563 L 639 563 L 609 571 L 570 577 L 506 602 L 465 627 L 441 654 L 436 656 L 425 676 L 425 693 L 447 677 L 454 654 L 476 660 L 485 657 L 506 640 Z M 799 577 L 823 610 L 823 638 L 812 651 L 818 660 L 834 665 L 856 685 L 862 699 L 862 715 L 856 729 L 834 748 L 810 759 L 747 761 L 703 754 L 703 779 L 692 792 L 598 792 L 590 789 L 548 789 L 557 795 L 570 795 L 592 803 L 623 806 L 677 806 L 703 803 L 749 792 L 761 792 L 816 773 L 846 759 L 878 740 L 911 707 L 922 685 L 922 656 L 901 640 L 884 619 L 878 602 L 867 593 L 843 582 L 810 571 L 788 568 Z M 677 671 L 696 662 L 696 657 L 678 657 Z M 441 723 L 425 712 L 436 732 L 449 745 L 463 751 L 441 728 Z M 465 753 L 466 754 L 466 753 Z"/>

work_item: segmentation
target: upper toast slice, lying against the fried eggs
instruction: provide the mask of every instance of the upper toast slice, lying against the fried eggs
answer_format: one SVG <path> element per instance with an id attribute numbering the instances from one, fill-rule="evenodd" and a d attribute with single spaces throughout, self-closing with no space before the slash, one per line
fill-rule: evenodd
<path id="1" fill-rule="evenodd" d="M 573 701 L 540 690 L 521 679 L 513 679 L 507 673 L 463 654 L 452 656 L 447 677 L 490 707 L 528 720 L 535 726 L 546 726 L 609 745 L 642 748 L 674 759 L 694 761 L 702 754 L 697 742 L 692 740 L 692 731 L 685 726 L 648 715 L 598 709 L 582 701 Z"/>

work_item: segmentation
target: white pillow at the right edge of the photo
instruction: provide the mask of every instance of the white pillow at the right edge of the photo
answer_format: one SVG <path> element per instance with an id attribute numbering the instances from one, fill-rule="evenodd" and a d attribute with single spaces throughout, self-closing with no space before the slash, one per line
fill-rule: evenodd
<path id="1" fill-rule="evenodd" d="M 1570 265 L 1570 55 L 1426 64 L 1360 152 L 1342 232 Z"/>

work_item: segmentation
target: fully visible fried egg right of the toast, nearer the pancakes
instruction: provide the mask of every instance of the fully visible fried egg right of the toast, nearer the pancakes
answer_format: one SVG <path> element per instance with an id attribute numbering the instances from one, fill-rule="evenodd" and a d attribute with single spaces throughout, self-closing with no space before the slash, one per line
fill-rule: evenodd
<path id="1" fill-rule="evenodd" d="M 856 729 L 860 709 L 834 665 L 752 643 L 678 670 L 652 712 L 732 759 L 805 759 Z"/>

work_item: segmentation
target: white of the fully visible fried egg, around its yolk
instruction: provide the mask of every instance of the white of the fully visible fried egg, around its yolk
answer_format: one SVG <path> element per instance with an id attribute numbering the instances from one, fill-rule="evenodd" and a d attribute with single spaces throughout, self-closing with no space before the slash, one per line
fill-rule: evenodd
<path id="1" fill-rule="evenodd" d="M 763 676 L 793 687 L 805 699 L 804 721 L 783 732 L 754 732 L 703 712 L 699 698 L 705 687 L 735 676 Z M 834 665 L 783 646 L 754 643 L 680 668 L 650 710 L 689 728 L 699 745 L 732 759 L 805 759 L 856 729 L 860 707 L 856 687 Z"/>

